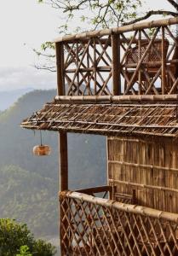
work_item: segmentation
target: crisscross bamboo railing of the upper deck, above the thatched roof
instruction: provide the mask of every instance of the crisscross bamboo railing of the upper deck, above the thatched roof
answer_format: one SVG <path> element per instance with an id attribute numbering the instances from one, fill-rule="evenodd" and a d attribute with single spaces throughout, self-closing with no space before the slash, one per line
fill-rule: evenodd
<path id="1" fill-rule="evenodd" d="M 178 93 L 178 18 L 58 38 L 60 96 Z"/>

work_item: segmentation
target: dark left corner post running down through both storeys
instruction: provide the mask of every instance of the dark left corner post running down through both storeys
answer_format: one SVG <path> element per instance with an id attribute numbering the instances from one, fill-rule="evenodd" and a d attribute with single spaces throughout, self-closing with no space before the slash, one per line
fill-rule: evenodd
<path id="1" fill-rule="evenodd" d="M 64 49 L 62 43 L 55 44 L 56 49 L 56 66 L 57 66 L 57 94 L 62 96 L 65 94 L 65 78 L 64 78 Z M 68 155 L 67 155 L 67 133 L 66 131 L 60 131 L 59 134 L 59 160 L 60 160 L 60 191 L 68 189 Z M 63 203 L 63 208 L 66 209 L 66 203 Z M 66 227 L 67 222 L 64 218 L 64 212 L 60 207 L 60 252 L 61 255 L 65 253 L 65 246 L 67 245 L 67 239 L 65 237 L 65 231 L 61 228 L 61 223 Z M 63 242 L 62 242 L 63 241 Z"/>

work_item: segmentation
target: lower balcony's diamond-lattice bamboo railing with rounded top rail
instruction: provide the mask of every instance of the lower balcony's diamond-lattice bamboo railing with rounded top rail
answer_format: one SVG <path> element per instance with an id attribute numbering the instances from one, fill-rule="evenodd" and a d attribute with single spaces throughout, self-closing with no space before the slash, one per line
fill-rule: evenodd
<path id="1" fill-rule="evenodd" d="M 112 187 L 60 192 L 62 256 L 178 255 L 178 214 L 107 197 Z"/>

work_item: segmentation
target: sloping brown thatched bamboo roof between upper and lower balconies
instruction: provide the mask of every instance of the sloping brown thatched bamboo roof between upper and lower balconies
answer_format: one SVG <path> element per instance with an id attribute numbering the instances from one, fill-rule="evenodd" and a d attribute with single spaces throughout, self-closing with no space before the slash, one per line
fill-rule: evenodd
<path id="1" fill-rule="evenodd" d="M 178 136 L 177 102 L 49 102 L 25 119 L 27 129 L 106 136 Z"/>

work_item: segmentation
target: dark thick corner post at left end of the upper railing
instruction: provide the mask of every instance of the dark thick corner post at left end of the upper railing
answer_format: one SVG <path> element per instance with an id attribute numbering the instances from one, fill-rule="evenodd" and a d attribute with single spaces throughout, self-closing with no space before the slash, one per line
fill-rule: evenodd
<path id="1" fill-rule="evenodd" d="M 64 79 L 64 49 L 62 43 L 55 44 L 56 67 L 57 67 L 57 94 L 65 95 Z"/>

